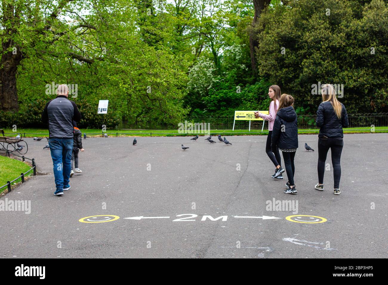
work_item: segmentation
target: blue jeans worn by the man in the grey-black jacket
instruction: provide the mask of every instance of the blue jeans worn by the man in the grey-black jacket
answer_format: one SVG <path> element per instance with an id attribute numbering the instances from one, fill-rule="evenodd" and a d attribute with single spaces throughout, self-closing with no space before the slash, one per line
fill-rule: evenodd
<path id="1" fill-rule="evenodd" d="M 50 138 L 49 139 L 55 186 L 60 192 L 63 188 L 69 187 L 71 151 L 73 150 L 72 138 Z"/>

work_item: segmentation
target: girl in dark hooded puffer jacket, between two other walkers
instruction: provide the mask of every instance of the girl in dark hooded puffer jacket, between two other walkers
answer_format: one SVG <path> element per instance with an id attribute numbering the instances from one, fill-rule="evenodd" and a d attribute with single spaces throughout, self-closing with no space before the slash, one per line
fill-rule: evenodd
<path id="1" fill-rule="evenodd" d="M 288 94 L 280 97 L 279 110 L 277 111 L 274 128 L 272 130 L 272 145 L 277 145 L 283 153 L 288 182 L 284 193 L 297 193 L 294 184 L 294 157 L 298 148 L 298 119 L 292 107 L 294 98 Z"/>

